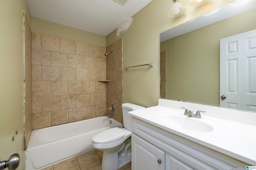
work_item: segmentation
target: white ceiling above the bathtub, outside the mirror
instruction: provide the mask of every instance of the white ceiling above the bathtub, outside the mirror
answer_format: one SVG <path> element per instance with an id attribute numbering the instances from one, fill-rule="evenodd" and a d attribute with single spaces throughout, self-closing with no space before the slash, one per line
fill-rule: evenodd
<path id="1" fill-rule="evenodd" d="M 107 36 L 152 0 L 128 0 L 126 5 L 115 0 L 27 1 L 33 17 Z"/>

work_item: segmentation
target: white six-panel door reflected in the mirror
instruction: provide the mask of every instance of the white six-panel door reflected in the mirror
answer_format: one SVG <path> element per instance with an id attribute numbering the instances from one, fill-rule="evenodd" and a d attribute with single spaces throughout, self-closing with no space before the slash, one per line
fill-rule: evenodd
<path id="1" fill-rule="evenodd" d="M 220 39 L 220 107 L 256 112 L 256 29 Z"/>

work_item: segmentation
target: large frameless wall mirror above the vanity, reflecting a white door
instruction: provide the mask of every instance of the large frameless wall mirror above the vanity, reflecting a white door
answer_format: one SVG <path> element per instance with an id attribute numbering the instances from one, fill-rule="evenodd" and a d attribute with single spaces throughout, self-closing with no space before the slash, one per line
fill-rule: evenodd
<path id="1" fill-rule="evenodd" d="M 234 2 L 160 33 L 161 98 L 256 112 L 255 32 L 255 36 L 248 41 L 252 55 L 247 59 L 246 66 L 250 68 L 242 74 L 242 77 L 250 79 L 249 85 L 244 86 L 245 91 L 251 94 L 250 104 L 246 108 L 238 107 L 235 102 L 234 105 L 232 102 L 226 106 L 220 104 L 226 100 L 224 94 L 224 97 L 220 94 L 221 88 L 233 88 L 232 84 L 222 84 L 220 70 L 228 70 L 229 73 L 225 74 L 233 77 L 240 74 L 236 64 L 230 64 L 229 69 L 220 67 L 220 39 L 256 29 L 256 0 Z M 232 43 L 228 48 L 237 50 Z M 231 79 L 224 78 L 227 81 Z M 232 81 L 236 85 L 245 84 L 235 78 Z M 238 98 L 244 100 L 245 97 Z"/>

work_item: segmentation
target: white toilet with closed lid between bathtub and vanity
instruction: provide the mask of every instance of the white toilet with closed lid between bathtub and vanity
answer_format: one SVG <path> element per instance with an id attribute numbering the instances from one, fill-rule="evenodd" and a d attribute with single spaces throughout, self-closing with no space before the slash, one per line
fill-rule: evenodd
<path id="1" fill-rule="evenodd" d="M 103 151 L 102 170 L 117 170 L 131 161 L 131 116 L 128 111 L 145 107 L 131 103 L 122 104 L 124 128 L 113 127 L 92 137 L 92 146 Z"/>

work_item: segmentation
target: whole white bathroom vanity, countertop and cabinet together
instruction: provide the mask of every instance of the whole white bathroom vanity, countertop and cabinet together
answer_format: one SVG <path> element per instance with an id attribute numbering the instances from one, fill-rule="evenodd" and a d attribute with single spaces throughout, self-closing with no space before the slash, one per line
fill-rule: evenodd
<path id="1" fill-rule="evenodd" d="M 202 118 L 184 115 L 186 107 Z M 256 113 L 159 99 L 131 111 L 133 170 L 244 170 L 256 165 Z"/>

